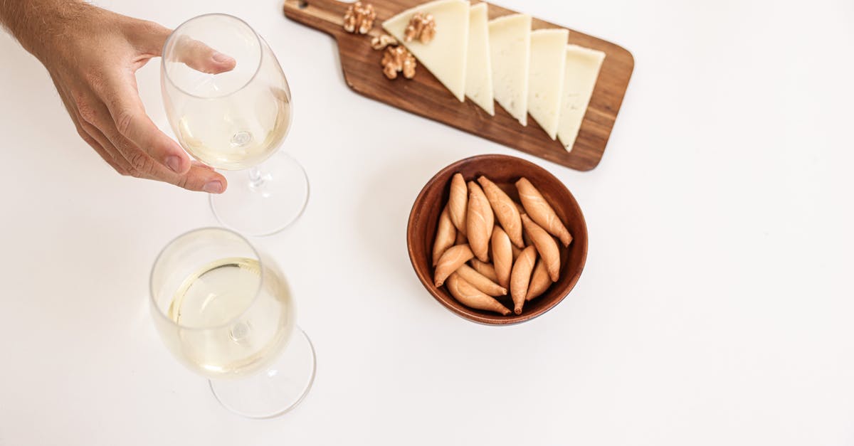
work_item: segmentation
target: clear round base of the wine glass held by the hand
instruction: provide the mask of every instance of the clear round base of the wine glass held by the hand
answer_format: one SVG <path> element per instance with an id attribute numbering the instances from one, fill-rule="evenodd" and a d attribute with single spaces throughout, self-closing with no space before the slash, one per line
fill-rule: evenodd
<path id="1" fill-rule="evenodd" d="M 220 171 L 228 189 L 210 195 L 219 223 L 250 236 L 282 231 L 300 217 L 308 202 L 306 171 L 294 158 L 278 152 L 258 168 L 261 180 L 255 182 L 249 171 Z"/>

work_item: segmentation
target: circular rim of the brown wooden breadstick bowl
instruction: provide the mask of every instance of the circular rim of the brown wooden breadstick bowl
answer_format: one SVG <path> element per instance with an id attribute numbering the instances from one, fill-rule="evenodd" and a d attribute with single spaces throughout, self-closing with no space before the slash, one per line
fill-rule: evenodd
<path id="1" fill-rule="evenodd" d="M 415 253 L 413 252 L 412 244 L 416 243 L 417 241 L 412 239 L 414 236 L 413 224 L 414 224 L 414 218 L 415 218 L 417 208 L 419 208 L 419 207 L 424 208 L 424 205 L 423 205 L 423 202 L 425 199 L 424 196 L 427 194 L 427 191 L 429 189 L 431 189 L 432 186 L 436 185 L 436 182 L 438 181 L 439 177 L 442 177 L 448 171 L 457 169 L 457 167 L 459 167 L 459 165 L 461 165 L 463 163 L 468 163 L 468 162 L 472 162 L 472 161 L 483 161 L 485 159 L 500 159 L 503 161 L 512 161 L 512 162 L 517 162 L 517 163 L 522 163 L 522 164 L 528 164 L 529 166 L 534 167 L 537 170 L 540 170 L 542 173 L 545 173 L 545 175 L 547 177 L 551 177 L 551 179 L 553 179 L 555 182 L 557 182 L 564 189 L 564 191 L 566 191 L 567 195 L 570 197 L 570 204 L 573 208 L 576 209 L 576 211 L 578 213 L 578 217 L 582 223 L 581 234 L 576 234 L 574 237 L 574 240 L 581 238 L 584 241 L 583 246 L 582 246 L 581 261 L 578 264 L 577 272 L 570 279 L 570 282 L 567 285 L 565 292 L 561 296 L 557 296 L 553 300 L 553 302 L 551 302 L 551 303 L 547 304 L 546 306 L 539 308 L 535 311 L 529 312 L 529 313 L 512 314 L 510 316 L 502 316 L 500 314 L 495 314 L 494 316 L 492 316 L 492 315 L 487 316 L 484 314 L 475 313 L 474 310 L 471 310 L 471 308 L 465 308 L 465 306 L 463 306 L 461 303 L 456 303 L 456 301 L 448 302 L 448 299 L 438 292 L 438 289 L 436 288 L 436 285 L 433 284 L 431 278 L 425 277 L 424 273 L 419 271 L 419 269 L 415 263 Z M 453 173 L 452 173 L 452 175 L 453 175 Z M 580 235 L 582 235 L 582 237 L 579 237 Z M 554 308 L 555 306 L 557 306 L 560 302 L 563 302 L 564 298 L 566 298 L 566 296 L 569 296 L 570 292 L 576 287 L 576 284 L 578 283 L 578 279 L 581 278 L 582 272 L 584 270 L 584 266 L 587 263 L 587 255 L 588 255 L 587 220 L 584 219 L 584 214 L 582 213 L 582 208 L 581 208 L 581 206 L 578 205 L 578 201 L 576 200 L 576 197 L 574 195 L 572 195 L 572 191 L 570 191 L 570 189 L 568 187 L 566 187 L 566 185 L 564 185 L 563 181 L 558 179 L 558 177 L 555 177 L 553 175 L 553 173 L 549 172 L 545 167 L 538 166 L 537 164 L 535 164 L 531 161 L 525 160 L 523 158 L 518 158 L 516 156 L 500 155 L 500 154 L 484 154 L 484 155 L 469 156 L 467 158 L 463 158 L 461 160 L 454 161 L 451 164 L 448 164 L 446 167 L 443 167 L 439 172 L 437 172 L 435 175 L 433 175 L 427 181 L 427 183 L 424 184 L 424 187 L 421 188 L 421 191 L 418 192 L 418 197 L 416 197 L 415 201 L 412 202 L 412 208 L 409 211 L 409 219 L 407 221 L 407 252 L 409 253 L 409 262 L 412 264 L 412 269 L 415 271 L 415 275 L 417 275 L 418 279 L 421 281 L 421 285 L 424 285 L 424 288 L 430 293 L 430 295 L 433 296 L 433 298 L 436 299 L 436 301 L 441 303 L 443 307 L 451 310 L 451 312 L 453 314 L 458 315 L 462 319 L 470 320 L 472 322 L 477 322 L 478 324 L 482 324 L 482 325 L 486 325 L 486 326 L 513 326 L 516 324 L 521 324 L 523 322 L 527 322 L 529 320 L 533 320 L 533 319 L 541 316 L 542 314 L 547 313 L 547 311 L 549 311 L 552 308 Z M 458 307 L 458 305 L 459 305 L 459 307 Z"/>

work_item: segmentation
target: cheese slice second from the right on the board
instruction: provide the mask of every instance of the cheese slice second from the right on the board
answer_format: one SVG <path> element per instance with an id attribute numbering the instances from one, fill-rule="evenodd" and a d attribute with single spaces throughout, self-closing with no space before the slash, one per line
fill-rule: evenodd
<path id="1" fill-rule="evenodd" d="M 565 29 L 541 29 L 531 32 L 531 55 L 528 69 L 528 113 L 548 137 L 558 135 L 561 92 L 564 89 L 566 40 Z"/>

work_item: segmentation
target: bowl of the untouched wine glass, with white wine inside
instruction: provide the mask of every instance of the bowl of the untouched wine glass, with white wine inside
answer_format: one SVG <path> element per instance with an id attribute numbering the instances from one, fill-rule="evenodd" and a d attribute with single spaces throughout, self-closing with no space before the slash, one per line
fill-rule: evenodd
<path id="1" fill-rule="evenodd" d="M 294 329 L 283 274 L 224 229 L 199 229 L 168 244 L 151 272 L 151 298 L 167 347 L 210 379 L 257 372 Z"/>

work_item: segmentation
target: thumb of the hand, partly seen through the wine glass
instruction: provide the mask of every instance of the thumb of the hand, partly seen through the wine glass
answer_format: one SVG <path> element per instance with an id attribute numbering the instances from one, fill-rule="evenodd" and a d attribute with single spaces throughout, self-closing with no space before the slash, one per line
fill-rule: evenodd
<path id="1" fill-rule="evenodd" d="M 135 32 L 129 37 L 144 53 L 150 56 L 161 56 L 170 33 L 172 30 L 155 22 L 138 21 Z M 173 43 L 173 55 L 170 58 L 183 62 L 197 71 L 210 74 L 231 71 L 237 66 L 237 61 L 233 57 L 226 56 L 187 36 L 180 36 Z"/>

